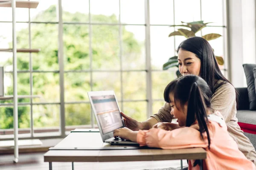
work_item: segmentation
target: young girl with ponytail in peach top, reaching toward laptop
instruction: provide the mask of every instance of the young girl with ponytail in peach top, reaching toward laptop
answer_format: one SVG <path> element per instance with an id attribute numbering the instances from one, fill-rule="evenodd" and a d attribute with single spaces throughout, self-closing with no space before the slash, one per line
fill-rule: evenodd
<path id="1" fill-rule="evenodd" d="M 183 76 L 170 82 L 164 91 L 164 99 L 172 107 L 170 113 L 177 118 L 180 128 L 132 131 L 125 127 L 114 130 L 114 136 L 138 142 L 140 146 L 163 149 L 203 147 L 207 151 L 207 159 L 203 161 L 206 170 L 256 170 L 228 134 L 221 114 L 213 113 L 211 96 L 204 79 Z M 198 169 L 198 161 L 189 160 L 189 170 Z"/>

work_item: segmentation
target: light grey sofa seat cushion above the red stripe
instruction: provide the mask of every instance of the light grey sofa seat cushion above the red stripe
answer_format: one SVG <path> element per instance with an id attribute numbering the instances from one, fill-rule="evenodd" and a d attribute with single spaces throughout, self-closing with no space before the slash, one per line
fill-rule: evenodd
<path id="1" fill-rule="evenodd" d="M 238 122 L 256 125 L 256 111 L 240 110 L 237 111 Z"/>

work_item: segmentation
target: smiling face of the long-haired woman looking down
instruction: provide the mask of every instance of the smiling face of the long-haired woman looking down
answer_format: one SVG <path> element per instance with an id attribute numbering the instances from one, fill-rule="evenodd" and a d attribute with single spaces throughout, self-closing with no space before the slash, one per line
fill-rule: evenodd
<path id="1" fill-rule="evenodd" d="M 200 75 L 201 60 L 194 53 L 180 48 L 178 62 L 179 71 L 183 76 L 186 74 Z"/>

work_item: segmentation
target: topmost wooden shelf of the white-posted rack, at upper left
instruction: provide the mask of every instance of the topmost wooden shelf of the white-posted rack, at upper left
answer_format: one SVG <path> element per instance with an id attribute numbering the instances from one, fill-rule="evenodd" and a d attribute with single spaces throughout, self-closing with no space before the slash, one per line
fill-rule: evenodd
<path id="1" fill-rule="evenodd" d="M 16 8 L 37 8 L 39 2 L 36 1 L 16 1 Z M 0 7 L 12 7 L 11 0 L 0 0 Z"/>

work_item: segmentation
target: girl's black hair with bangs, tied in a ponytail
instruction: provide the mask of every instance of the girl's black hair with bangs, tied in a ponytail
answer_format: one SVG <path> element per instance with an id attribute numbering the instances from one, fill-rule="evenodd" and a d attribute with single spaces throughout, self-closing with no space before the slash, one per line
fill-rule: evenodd
<path id="1" fill-rule="evenodd" d="M 164 99 L 170 103 L 170 94 L 174 96 L 174 102 L 180 102 L 180 107 L 188 104 L 187 116 L 186 116 L 186 127 L 191 126 L 195 121 L 198 121 L 199 131 L 201 138 L 202 133 L 207 133 L 208 148 L 210 149 L 211 139 L 209 136 L 209 130 L 207 127 L 207 111 L 211 110 L 211 96 L 212 91 L 210 90 L 207 82 L 201 77 L 195 75 L 182 76 L 172 82 L 170 82 L 164 91 Z M 177 108 L 178 109 L 178 108 Z M 199 161 L 195 161 L 195 165 Z"/>

